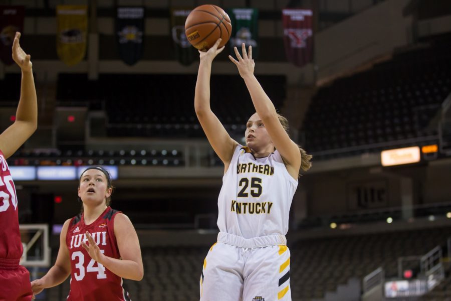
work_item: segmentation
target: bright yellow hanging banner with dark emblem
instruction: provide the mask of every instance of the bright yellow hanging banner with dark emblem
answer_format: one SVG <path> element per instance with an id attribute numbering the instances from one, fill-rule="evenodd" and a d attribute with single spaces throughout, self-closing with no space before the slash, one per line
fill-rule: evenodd
<path id="1" fill-rule="evenodd" d="M 57 53 L 66 65 L 80 63 L 86 54 L 88 34 L 88 7 L 86 5 L 58 5 Z"/>

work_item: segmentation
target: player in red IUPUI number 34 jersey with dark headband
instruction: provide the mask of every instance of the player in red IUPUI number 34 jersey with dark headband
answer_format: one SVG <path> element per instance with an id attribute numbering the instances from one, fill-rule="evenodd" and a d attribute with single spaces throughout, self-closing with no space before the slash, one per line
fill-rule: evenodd
<path id="1" fill-rule="evenodd" d="M 78 187 L 83 211 L 64 223 L 55 265 L 32 282 L 35 295 L 70 274 L 68 301 L 130 300 L 122 278 L 142 279 L 141 249 L 128 217 L 109 207 L 112 192 L 105 169 L 92 166 L 83 172 Z"/>

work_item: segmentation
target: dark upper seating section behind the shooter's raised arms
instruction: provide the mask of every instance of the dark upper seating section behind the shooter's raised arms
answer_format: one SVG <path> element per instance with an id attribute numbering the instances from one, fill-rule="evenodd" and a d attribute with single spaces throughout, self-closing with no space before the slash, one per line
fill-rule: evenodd
<path id="1" fill-rule="evenodd" d="M 284 76 L 258 76 L 276 108 L 285 99 Z M 204 137 L 194 112 L 195 74 L 60 74 L 57 99 L 91 104 L 108 115 L 109 136 Z M 230 132 L 242 134 L 255 111 L 238 75 L 211 76 L 211 109 Z"/>

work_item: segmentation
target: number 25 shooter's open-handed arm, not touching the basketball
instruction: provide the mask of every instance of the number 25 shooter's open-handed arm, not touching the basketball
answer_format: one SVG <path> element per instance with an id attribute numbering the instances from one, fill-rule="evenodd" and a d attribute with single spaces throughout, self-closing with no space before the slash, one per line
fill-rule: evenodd
<path id="1" fill-rule="evenodd" d="M 241 77 L 245 80 L 255 110 L 260 118 L 262 118 L 263 124 L 265 125 L 274 146 L 279 150 L 280 155 L 284 159 L 288 172 L 293 178 L 297 179 L 301 167 L 301 153 L 299 147 L 291 140 L 290 136 L 283 128 L 277 117 L 276 108 L 274 107 L 273 102 L 265 93 L 254 75 L 255 62 L 252 59 L 252 46 L 249 46 L 249 51 L 247 52 L 246 46 L 243 43 L 242 50 L 243 57 L 241 57 L 237 47 L 235 47 L 237 60 L 232 56 L 229 56 L 229 58 L 237 66 Z"/>

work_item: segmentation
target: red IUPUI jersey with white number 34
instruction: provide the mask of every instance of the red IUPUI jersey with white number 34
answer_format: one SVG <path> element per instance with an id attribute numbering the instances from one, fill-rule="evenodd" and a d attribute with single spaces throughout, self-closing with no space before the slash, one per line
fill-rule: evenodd
<path id="1" fill-rule="evenodd" d="M 119 259 L 121 256 L 113 227 L 117 213 L 119 211 L 108 207 L 90 225 L 85 224 L 83 213 L 71 219 L 66 235 L 71 259 L 68 301 L 130 300 L 128 292 L 122 287 L 122 278 L 94 261 L 81 244 L 82 241 L 87 243 L 85 233 L 88 231 L 103 254 Z"/>

